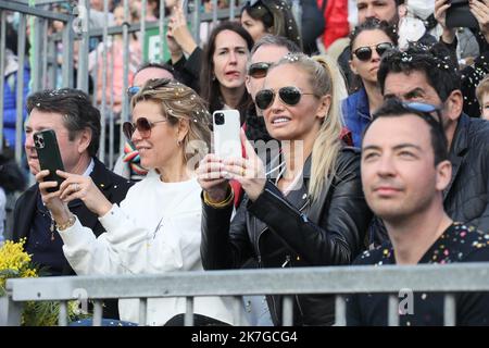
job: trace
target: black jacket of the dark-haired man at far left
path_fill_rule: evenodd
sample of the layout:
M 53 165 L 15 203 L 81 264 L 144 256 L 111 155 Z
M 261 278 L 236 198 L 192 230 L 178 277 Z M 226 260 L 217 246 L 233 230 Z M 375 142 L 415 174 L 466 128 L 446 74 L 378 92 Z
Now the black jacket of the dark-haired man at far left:
M 112 203 L 120 203 L 126 197 L 127 190 L 133 184 L 124 177 L 108 170 L 98 159 L 93 158 L 93 161 L 95 166 L 90 174 L 91 179 L 100 188 L 109 201 Z M 12 239 L 14 241 L 18 241 L 18 239 L 24 237 L 27 239 L 29 238 L 30 226 L 37 209 L 37 200 L 39 195 L 39 185 L 36 184 L 22 194 L 15 202 L 14 228 L 12 235 Z M 74 214 L 76 214 L 82 225 L 91 228 L 97 237 L 104 232 L 98 216 L 89 211 L 80 200 L 71 202 L 68 208 Z M 66 259 L 64 259 L 64 263 L 65 266 L 63 268 L 63 275 L 74 275 L 75 272 L 70 266 Z M 114 304 L 115 306 L 108 306 L 106 310 L 104 309 L 104 315 L 106 318 L 116 319 L 116 315 L 118 315 L 116 313 L 115 301 Z

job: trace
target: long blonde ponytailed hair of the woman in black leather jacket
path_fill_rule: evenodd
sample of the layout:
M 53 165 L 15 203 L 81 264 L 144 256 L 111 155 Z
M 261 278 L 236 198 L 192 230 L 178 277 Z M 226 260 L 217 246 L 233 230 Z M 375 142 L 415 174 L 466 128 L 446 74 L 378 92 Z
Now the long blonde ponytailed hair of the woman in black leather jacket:
M 308 191 L 314 201 L 325 188 L 326 182 L 331 182 L 336 175 L 336 160 L 342 147 L 340 101 L 346 92 L 344 82 L 341 80 L 338 65 L 325 55 L 309 58 L 303 53 L 290 53 L 273 66 L 283 64 L 297 65 L 303 71 L 316 97 L 331 98 L 311 153 L 311 179 Z M 344 90 L 341 90 L 341 86 Z

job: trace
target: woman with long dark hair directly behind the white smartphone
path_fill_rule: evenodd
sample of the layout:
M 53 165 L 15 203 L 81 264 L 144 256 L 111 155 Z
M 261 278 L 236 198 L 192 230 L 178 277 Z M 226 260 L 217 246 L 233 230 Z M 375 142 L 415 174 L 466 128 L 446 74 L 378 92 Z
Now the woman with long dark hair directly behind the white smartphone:
M 216 26 L 204 47 L 200 95 L 209 102 L 209 110 L 237 109 L 241 123 L 251 98 L 244 85 L 247 61 L 253 39 L 241 25 L 223 22 Z

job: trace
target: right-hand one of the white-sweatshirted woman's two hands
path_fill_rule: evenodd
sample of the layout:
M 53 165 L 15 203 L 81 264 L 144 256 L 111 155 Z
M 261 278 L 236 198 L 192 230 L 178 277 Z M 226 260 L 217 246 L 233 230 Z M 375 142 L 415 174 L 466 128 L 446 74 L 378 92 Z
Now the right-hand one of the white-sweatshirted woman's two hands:
M 105 215 L 112 209 L 112 203 L 93 184 L 90 176 L 70 174 L 62 171 L 57 171 L 57 174 L 65 178 L 60 185 L 60 199 L 65 203 L 74 199 L 80 199 L 98 216 Z

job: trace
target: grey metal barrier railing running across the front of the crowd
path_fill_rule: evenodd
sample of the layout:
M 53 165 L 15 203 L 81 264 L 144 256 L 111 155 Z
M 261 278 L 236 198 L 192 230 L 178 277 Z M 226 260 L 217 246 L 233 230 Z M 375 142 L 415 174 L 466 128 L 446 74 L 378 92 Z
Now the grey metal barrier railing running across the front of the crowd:
M 240 318 L 241 296 L 284 295 L 283 323 L 292 325 L 293 296 L 297 294 L 336 295 L 336 325 L 346 325 L 348 294 L 391 294 L 389 325 L 399 325 L 401 290 L 446 293 L 444 325 L 455 325 L 454 293 L 489 291 L 488 263 L 459 263 L 415 266 L 330 266 L 268 270 L 176 272 L 162 275 L 71 276 L 9 279 L 8 298 L 0 302 L 0 325 L 20 325 L 22 302 L 61 301 L 60 325 L 66 325 L 68 300 L 80 289 L 95 302 L 93 325 L 100 325 L 102 299 L 140 300 L 139 322 L 147 318 L 148 298 L 185 297 L 185 324 L 192 324 L 193 297 L 229 296 L 235 298 L 236 318 Z M 142 306 L 141 306 L 142 304 Z

